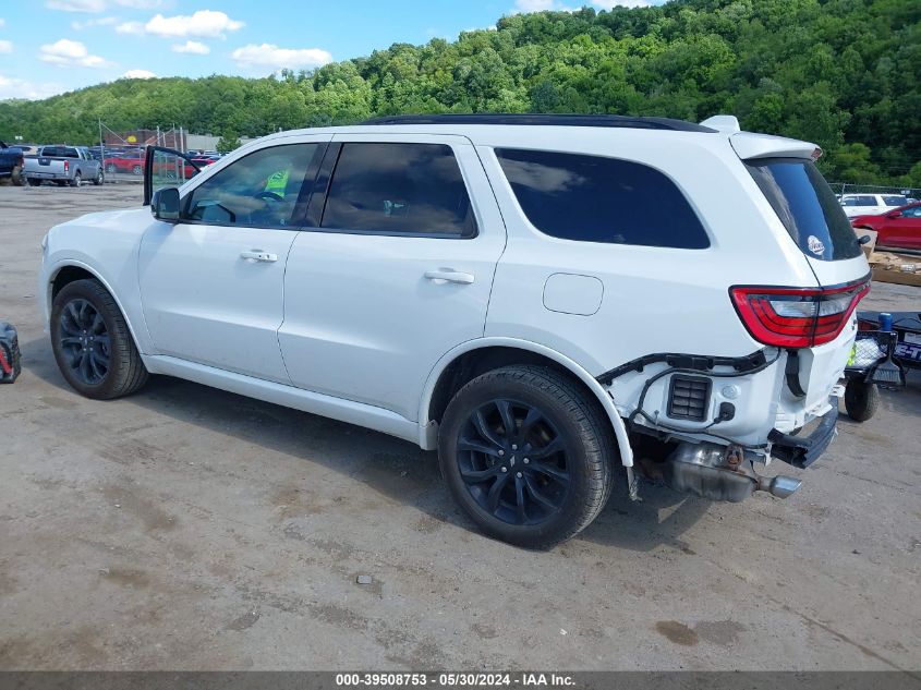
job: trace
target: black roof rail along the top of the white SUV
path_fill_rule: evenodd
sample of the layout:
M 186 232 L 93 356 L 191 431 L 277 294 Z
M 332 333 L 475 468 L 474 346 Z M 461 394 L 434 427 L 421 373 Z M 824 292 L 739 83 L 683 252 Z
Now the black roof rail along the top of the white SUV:
M 596 114 L 531 114 L 531 113 L 475 113 L 475 114 L 400 114 L 365 120 L 362 124 L 520 124 L 536 126 L 599 126 L 635 130 L 671 130 L 675 132 L 716 132 L 706 126 L 672 120 L 671 118 L 632 118 L 628 116 Z

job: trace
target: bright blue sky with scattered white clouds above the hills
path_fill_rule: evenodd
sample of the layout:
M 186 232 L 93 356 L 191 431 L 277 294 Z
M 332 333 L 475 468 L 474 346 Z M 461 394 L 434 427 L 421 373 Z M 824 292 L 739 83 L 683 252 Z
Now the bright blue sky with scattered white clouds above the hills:
M 448 39 L 513 12 L 663 0 L 19 0 L 0 1 L 0 99 L 121 76 L 265 76 Z

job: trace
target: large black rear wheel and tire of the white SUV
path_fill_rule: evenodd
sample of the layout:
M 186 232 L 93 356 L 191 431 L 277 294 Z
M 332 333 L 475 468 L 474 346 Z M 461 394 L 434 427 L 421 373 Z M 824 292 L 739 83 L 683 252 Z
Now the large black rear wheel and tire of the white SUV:
M 487 372 L 455 396 L 438 435 L 448 487 L 486 534 L 549 548 L 610 496 L 614 439 L 599 405 L 542 366 Z

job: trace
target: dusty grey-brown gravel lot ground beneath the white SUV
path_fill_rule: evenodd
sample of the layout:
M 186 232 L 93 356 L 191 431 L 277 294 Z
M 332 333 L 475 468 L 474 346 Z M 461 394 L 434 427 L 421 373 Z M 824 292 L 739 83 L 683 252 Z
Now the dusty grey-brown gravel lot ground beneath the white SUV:
M 843 419 L 812 469 L 783 465 L 805 479 L 786 501 L 616 489 L 581 536 L 523 552 L 393 438 L 163 377 L 74 394 L 38 242 L 140 197 L 0 187 L 0 318 L 24 354 L 0 387 L 0 668 L 921 669 L 921 377 Z

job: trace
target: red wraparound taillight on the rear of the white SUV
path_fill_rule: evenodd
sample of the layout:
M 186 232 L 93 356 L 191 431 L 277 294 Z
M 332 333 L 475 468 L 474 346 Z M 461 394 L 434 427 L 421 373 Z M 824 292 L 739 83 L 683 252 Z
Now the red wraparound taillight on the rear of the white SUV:
M 857 303 L 868 292 L 869 279 L 835 288 L 729 290 L 752 337 L 777 348 L 811 348 L 831 342 L 844 330 Z

